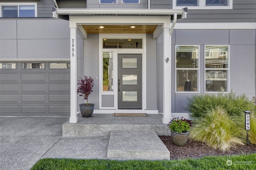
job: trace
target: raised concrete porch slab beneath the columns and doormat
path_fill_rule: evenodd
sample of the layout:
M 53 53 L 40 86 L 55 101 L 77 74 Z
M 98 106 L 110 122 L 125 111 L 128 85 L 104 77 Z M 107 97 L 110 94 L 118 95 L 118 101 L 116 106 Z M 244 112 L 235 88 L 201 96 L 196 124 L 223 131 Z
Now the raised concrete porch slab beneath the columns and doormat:
M 157 135 L 170 136 L 169 127 L 162 123 L 162 115 L 149 114 L 148 117 L 114 117 L 112 114 L 93 114 L 82 117 L 77 123 L 67 121 L 62 125 L 63 137 L 109 136 L 110 131 L 154 131 Z

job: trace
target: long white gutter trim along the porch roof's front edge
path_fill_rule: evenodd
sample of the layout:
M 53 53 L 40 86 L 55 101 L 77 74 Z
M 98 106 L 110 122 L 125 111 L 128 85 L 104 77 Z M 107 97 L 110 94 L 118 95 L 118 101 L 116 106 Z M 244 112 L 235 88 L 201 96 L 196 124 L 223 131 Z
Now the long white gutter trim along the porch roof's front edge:
M 162 15 L 174 14 L 185 16 L 184 10 L 170 9 L 60 9 L 56 8 L 58 15 Z

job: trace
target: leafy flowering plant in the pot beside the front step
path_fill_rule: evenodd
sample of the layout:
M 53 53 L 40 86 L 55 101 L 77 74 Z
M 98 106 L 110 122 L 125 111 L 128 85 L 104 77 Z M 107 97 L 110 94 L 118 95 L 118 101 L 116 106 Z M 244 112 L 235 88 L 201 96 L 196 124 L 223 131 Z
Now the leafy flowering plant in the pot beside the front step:
M 190 120 L 184 119 L 183 117 L 181 119 L 176 117 L 172 118 L 168 126 L 172 132 L 186 133 L 189 131 L 191 123 Z

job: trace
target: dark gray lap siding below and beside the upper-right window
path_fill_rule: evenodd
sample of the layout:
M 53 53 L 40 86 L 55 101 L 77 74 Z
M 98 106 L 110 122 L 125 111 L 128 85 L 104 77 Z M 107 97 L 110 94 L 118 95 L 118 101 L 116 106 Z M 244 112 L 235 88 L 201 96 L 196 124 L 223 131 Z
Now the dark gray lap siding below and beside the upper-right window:
M 233 0 L 230 10 L 190 10 L 177 22 L 256 22 L 256 0 Z

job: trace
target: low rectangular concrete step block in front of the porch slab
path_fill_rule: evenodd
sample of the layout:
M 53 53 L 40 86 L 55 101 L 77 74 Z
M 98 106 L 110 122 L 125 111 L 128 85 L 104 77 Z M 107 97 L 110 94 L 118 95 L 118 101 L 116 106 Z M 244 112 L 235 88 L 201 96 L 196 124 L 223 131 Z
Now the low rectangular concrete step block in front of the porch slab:
M 111 131 L 107 157 L 170 160 L 170 152 L 154 131 Z

